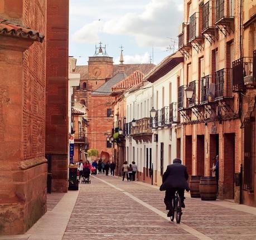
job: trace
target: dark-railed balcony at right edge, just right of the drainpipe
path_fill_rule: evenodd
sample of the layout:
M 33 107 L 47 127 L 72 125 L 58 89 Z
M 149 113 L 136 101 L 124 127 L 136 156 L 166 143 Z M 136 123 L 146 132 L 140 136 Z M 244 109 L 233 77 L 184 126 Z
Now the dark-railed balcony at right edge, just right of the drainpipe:
M 246 85 L 255 85 L 255 77 L 253 76 L 253 57 L 241 57 L 234 61 L 232 66 L 233 92 L 240 92 L 246 89 Z

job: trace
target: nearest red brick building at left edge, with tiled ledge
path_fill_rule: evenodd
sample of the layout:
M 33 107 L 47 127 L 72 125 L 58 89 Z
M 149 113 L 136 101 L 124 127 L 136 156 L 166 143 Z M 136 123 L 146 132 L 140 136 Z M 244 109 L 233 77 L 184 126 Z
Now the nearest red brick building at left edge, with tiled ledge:
M 45 34 L 44 1 L 0 1 L 1 234 L 46 212 Z

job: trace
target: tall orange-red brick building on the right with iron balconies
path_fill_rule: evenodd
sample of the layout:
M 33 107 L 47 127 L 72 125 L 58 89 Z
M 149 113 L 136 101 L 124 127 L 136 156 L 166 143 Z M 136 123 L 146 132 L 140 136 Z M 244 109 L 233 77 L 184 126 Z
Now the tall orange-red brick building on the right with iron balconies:
M 255 206 L 255 6 L 185 0 L 184 9 L 178 43 L 185 57 L 184 85 L 178 87 L 183 160 L 190 174 L 209 176 L 219 155 L 219 198 Z M 252 79 L 249 87 L 246 79 Z

